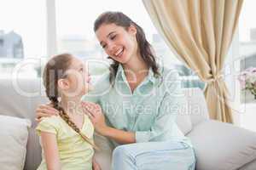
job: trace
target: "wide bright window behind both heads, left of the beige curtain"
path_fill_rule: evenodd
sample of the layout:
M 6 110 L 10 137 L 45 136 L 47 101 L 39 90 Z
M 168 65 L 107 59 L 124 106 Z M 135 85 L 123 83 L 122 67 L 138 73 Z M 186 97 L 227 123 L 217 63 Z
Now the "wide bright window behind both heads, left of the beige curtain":
M 172 54 L 154 28 L 143 2 L 137 0 L 3 1 L 0 6 L 1 77 L 10 77 L 14 71 L 21 77 L 41 76 L 46 57 L 65 52 L 90 59 L 90 72 L 102 74 L 108 69 L 109 59 L 96 40 L 93 23 L 99 14 L 108 10 L 122 11 L 143 27 L 157 56 L 185 77 L 184 87 L 204 87 Z

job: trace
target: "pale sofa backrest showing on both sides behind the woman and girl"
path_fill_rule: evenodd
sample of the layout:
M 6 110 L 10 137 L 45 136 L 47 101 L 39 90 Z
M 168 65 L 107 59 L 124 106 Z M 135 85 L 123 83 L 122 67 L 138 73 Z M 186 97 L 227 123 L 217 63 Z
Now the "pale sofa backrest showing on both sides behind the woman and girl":
M 26 170 L 36 169 L 41 161 L 41 148 L 36 127 L 35 110 L 40 104 L 49 103 L 41 79 L 0 79 L 0 115 L 18 116 L 32 121 L 26 152 Z M 187 134 L 197 124 L 208 119 L 207 105 L 200 88 L 186 88 L 187 110 L 177 116 L 177 125 Z

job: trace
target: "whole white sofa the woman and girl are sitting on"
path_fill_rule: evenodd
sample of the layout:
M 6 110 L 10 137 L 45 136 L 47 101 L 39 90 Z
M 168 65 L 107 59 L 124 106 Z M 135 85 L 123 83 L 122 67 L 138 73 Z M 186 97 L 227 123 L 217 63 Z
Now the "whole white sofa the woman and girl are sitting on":
M 24 169 L 35 170 L 41 161 L 41 148 L 34 132 L 34 118 L 36 107 L 48 102 L 44 87 L 39 79 L 0 79 L 0 92 L 0 115 L 18 116 L 32 121 Z M 256 133 L 210 120 L 206 101 L 199 88 L 186 88 L 184 94 L 188 99 L 188 112 L 177 116 L 177 124 L 195 146 L 196 169 L 256 170 Z M 102 148 L 102 152 L 96 153 L 102 170 L 110 169 L 111 143 L 96 135 L 96 144 Z

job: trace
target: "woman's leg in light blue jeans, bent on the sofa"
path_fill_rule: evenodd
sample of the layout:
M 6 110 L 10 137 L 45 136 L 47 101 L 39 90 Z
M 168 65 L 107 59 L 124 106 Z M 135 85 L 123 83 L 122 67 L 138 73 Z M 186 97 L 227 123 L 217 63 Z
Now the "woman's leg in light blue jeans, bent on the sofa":
M 194 170 L 194 150 L 183 142 L 119 145 L 113 150 L 113 170 Z

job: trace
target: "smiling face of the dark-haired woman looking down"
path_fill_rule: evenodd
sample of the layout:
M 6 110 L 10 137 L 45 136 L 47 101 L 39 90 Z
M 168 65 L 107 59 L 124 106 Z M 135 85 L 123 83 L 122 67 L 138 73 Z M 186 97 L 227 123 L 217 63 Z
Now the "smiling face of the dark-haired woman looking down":
M 103 24 L 96 31 L 96 37 L 109 57 L 126 64 L 137 54 L 136 33 L 135 26 L 125 30 L 124 27 L 115 24 Z

